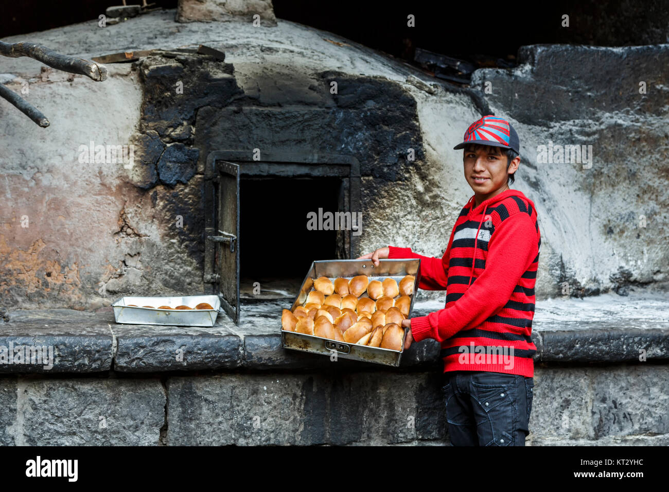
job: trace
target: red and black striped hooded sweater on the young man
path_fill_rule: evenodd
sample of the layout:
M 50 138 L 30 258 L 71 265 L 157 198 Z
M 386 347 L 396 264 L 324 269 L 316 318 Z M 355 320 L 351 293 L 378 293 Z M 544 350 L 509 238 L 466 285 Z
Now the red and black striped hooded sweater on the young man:
M 411 318 L 415 341 L 442 344 L 444 372 L 534 376 L 530 338 L 541 248 L 537 208 L 510 189 L 460 212 L 442 258 L 389 246 L 389 258 L 420 258 L 419 289 L 446 290 L 446 307 Z M 475 259 L 475 261 L 473 261 Z

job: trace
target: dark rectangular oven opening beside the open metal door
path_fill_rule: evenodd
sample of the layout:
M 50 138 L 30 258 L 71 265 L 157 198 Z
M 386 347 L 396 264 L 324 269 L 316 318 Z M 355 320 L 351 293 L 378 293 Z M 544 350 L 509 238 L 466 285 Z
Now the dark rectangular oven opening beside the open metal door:
M 338 177 L 240 178 L 240 300 L 292 301 L 312 261 L 344 258 L 345 231 L 307 229 L 309 212 L 348 210 L 343 191 Z

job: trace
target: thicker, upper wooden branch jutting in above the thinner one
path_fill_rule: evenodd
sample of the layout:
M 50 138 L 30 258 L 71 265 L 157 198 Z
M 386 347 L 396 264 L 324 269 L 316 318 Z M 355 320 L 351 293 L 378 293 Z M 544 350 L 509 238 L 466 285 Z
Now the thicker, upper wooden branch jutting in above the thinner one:
M 70 74 L 80 74 L 92 78 L 96 82 L 102 82 L 107 78 L 107 68 L 104 65 L 89 62 L 83 58 L 62 55 L 54 52 L 45 46 L 33 43 L 15 43 L 9 44 L 0 41 L 0 55 L 10 58 L 19 58 L 27 56 L 39 60 L 45 65 L 57 68 Z M 17 106 L 18 107 L 18 106 Z

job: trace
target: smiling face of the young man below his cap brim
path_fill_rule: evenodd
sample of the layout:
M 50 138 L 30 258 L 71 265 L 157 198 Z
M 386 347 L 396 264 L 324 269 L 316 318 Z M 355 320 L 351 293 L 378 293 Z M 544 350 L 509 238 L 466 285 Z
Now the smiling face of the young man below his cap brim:
M 464 149 L 464 177 L 476 195 L 484 197 L 502 187 L 508 187 L 506 186 L 508 181 L 507 157 L 502 152 L 504 150 L 500 147 L 486 149 L 483 146 L 472 146 Z M 509 166 L 508 170 L 513 169 Z

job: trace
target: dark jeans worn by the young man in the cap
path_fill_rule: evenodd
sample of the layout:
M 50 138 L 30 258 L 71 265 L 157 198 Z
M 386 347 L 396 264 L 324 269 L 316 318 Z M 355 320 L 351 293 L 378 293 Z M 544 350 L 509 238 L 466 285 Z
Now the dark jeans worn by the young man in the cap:
M 524 446 L 533 378 L 485 371 L 444 374 L 446 421 L 453 446 Z

